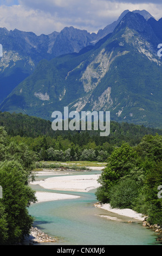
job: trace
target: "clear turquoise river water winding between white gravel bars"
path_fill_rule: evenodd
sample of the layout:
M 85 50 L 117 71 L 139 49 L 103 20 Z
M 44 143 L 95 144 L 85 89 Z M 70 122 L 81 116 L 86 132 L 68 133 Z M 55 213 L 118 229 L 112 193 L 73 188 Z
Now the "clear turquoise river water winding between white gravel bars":
M 94 173 L 96 172 L 87 175 Z M 81 173 L 75 173 L 77 174 Z M 41 176 L 37 179 L 45 178 L 49 176 Z M 78 199 L 37 203 L 30 206 L 29 214 L 35 217 L 35 225 L 44 233 L 59 238 L 57 243 L 51 245 L 159 245 L 156 241 L 157 235 L 142 227 L 138 221 L 128 223 L 127 221 L 131 219 L 127 217 L 119 217 L 106 210 L 95 208 L 95 190 L 81 193 L 44 190 L 40 186 L 33 188 L 37 191 L 81 196 Z M 107 220 L 100 215 L 122 218 L 122 221 Z

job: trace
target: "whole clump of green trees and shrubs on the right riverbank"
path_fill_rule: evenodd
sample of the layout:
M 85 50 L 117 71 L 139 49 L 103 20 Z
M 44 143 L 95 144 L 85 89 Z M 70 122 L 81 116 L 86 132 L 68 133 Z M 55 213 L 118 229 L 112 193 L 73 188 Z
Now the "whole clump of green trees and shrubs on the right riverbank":
M 100 202 L 135 210 L 150 224 L 162 225 L 162 136 L 147 135 L 136 147 L 123 143 L 114 149 L 99 182 Z

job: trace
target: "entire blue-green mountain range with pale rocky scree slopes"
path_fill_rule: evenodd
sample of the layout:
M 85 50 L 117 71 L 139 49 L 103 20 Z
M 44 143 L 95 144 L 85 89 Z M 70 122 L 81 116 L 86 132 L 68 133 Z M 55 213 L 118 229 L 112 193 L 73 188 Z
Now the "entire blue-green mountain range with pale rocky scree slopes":
M 69 106 L 161 128 L 161 22 L 147 11 L 126 10 L 98 34 L 73 27 L 40 36 L 0 29 L 1 111 L 51 120 L 53 111 Z

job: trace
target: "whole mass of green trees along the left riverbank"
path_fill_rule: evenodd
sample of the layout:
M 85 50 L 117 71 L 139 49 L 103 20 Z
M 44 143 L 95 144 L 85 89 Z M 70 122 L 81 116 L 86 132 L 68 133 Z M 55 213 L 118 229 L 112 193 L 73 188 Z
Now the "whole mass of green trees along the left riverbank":
M 28 186 L 35 154 L 24 143 L 9 143 L 4 127 L 0 127 L 0 141 L 0 244 L 10 245 L 22 241 L 33 223 L 27 208 L 36 202 Z

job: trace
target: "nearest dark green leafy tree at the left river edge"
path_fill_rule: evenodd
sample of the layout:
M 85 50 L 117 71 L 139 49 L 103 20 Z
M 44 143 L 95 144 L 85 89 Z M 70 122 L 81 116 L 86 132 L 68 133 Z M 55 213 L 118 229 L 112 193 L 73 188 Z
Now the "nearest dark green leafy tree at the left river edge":
M 1 163 L 0 185 L 3 188 L 2 204 L 7 215 L 7 243 L 21 242 L 29 234 L 33 223 L 27 208 L 36 202 L 35 192 L 26 184 L 23 168 L 17 161 Z

